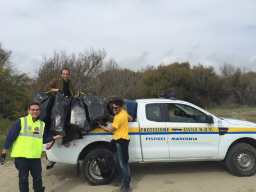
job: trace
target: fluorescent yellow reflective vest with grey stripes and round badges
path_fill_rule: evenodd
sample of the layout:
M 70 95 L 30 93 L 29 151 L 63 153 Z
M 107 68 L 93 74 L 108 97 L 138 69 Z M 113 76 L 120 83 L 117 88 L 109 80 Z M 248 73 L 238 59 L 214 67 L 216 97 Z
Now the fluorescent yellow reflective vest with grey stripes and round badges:
M 33 122 L 30 114 L 21 117 L 21 130 L 13 143 L 11 157 L 41 158 L 43 149 L 44 122 Z

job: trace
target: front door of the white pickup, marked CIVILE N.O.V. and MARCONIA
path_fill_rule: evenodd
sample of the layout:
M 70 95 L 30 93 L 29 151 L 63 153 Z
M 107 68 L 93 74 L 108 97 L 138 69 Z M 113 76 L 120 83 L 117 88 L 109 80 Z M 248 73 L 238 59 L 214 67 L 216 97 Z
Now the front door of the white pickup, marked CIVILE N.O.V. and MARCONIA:
M 206 122 L 207 115 L 192 106 L 166 103 L 168 147 L 171 159 L 212 158 L 217 156 L 217 125 Z

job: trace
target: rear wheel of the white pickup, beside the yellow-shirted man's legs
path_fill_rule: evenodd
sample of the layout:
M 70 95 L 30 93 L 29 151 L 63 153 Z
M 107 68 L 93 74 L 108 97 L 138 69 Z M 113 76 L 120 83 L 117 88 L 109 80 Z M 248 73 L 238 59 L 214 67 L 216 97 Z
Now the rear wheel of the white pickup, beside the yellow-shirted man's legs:
M 108 158 L 111 161 L 111 171 L 107 177 L 102 177 L 100 175 L 100 170 L 95 158 Z M 106 185 L 112 181 L 115 175 L 115 165 L 113 163 L 114 154 L 109 149 L 99 148 L 94 149 L 92 152 L 88 153 L 82 164 L 82 172 L 85 180 L 89 182 L 90 185 Z

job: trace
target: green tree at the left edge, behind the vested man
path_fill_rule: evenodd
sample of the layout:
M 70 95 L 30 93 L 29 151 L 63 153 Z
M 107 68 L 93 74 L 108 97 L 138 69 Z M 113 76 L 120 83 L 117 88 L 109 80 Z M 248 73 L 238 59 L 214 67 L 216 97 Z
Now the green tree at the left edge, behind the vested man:
M 0 43 L 0 116 L 15 120 L 28 108 L 30 78 L 13 67 L 11 53 Z

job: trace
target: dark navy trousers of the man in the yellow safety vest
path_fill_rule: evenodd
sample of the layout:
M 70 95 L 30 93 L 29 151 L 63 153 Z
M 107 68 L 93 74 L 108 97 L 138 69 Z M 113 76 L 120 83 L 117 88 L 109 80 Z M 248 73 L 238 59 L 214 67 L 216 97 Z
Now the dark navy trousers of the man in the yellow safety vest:
M 19 189 L 21 192 L 29 191 L 29 171 L 33 177 L 33 189 L 42 188 L 42 166 L 41 159 L 29 159 L 16 157 L 14 160 L 15 167 L 19 170 Z

